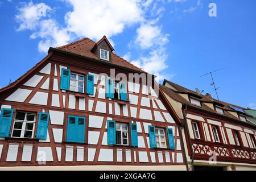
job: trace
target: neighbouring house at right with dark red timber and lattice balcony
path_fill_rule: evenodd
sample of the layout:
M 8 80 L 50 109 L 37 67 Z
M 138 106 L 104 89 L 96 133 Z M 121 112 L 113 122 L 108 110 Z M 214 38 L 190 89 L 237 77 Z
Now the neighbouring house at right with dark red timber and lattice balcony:
M 184 126 L 190 168 L 256 169 L 256 126 L 245 108 L 164 80 L 160 86 Z M 216 156 L 216 165 L 210 162 Z

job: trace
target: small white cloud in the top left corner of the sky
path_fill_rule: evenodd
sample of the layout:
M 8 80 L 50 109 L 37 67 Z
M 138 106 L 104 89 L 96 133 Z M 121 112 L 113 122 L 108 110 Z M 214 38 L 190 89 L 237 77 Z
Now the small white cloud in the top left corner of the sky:
M 16 21 L 20 23 L 17 31 L 23 30 L 35 30 L 39 24 L 39 20 L 47 16 L 47 13 L 51 11 L 51 7 L 44 3 L 34 4 L 25 3 L 24 6 L 18 8 L 19 14 L 15 16 Z

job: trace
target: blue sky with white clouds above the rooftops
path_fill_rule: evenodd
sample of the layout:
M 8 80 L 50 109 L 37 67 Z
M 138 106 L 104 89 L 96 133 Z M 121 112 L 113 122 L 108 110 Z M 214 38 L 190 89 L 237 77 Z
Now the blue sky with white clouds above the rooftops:
M 209 3 L 217 17 L 210 17 Z M 0 0 L 0 87 L 47 55 L 48 47 L 103 35 L 146 71 L 220 99 L 256 107 L 256 1 Z M 160 81 L 162 83 L 162 81 Z

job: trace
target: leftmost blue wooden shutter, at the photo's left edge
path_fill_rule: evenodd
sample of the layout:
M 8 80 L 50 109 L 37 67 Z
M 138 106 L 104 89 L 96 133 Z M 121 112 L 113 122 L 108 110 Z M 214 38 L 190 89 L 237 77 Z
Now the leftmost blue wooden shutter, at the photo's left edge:
M 9 137 L 13 112 L 13 109 L 2 108 L 0 115 L 0 137 Z

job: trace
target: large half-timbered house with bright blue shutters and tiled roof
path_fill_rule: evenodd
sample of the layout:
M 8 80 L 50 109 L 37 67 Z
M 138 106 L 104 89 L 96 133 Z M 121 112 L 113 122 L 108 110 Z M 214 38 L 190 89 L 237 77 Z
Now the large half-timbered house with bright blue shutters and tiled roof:
M 186 169 L 179 117 L 157 85 L 110 77 L 148 75 L 113 50 L 105 36 L 49 48 L 0 90 L 1 167 Z

